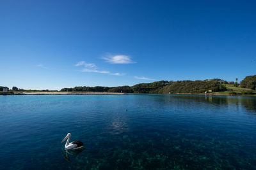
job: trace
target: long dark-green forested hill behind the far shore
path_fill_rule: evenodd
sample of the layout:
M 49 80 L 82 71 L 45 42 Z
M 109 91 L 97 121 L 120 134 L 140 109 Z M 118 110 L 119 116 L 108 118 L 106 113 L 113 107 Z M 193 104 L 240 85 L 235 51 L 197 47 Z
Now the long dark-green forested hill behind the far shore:
M 63 92 L 127 92 L 127 93 L 202 93 L 208 90 L 212 92 L 221 92 L 227 90 L 226 87 L 214 80 L 184 80 L 184 81 L 155 81 L 153 83 L 140 83 L 132 87 L 74 87 L 63 88 Z

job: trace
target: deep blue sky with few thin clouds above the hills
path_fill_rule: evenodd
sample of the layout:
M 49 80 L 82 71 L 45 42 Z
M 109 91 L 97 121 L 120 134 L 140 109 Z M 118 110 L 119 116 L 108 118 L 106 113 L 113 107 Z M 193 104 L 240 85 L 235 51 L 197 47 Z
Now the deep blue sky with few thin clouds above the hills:
M 256 1 L 0 1 L 0 85 L 119 86 L 255 74 Z

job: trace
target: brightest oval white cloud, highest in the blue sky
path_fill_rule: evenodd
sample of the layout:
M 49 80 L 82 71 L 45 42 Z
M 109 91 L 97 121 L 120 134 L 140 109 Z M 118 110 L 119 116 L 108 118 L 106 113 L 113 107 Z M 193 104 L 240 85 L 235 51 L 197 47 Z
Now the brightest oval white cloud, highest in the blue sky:
M 131 60 L 131 57 L 128 55 L 108 55 L 108 57 L 102 57 L 102 59 L 106 60 L 111 64 L 132 64 L 136 63 Z

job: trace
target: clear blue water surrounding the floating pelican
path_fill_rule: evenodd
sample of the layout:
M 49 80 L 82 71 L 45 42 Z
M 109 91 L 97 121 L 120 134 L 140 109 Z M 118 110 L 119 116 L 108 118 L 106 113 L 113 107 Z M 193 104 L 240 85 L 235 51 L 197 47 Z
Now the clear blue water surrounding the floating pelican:
M 0 96 L 0 129 L 0 169 L 256 169 L 256 97 Z

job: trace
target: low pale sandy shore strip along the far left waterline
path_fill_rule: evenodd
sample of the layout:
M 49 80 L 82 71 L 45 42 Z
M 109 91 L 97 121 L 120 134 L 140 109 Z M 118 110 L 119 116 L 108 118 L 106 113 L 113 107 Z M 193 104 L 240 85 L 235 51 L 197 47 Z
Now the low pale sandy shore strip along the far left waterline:
M 19 92 L 14 95 L 113 95 L 113 94 L 125 94 L 125 93 L 113 93 L 113 92 Z

